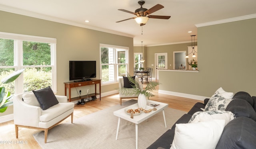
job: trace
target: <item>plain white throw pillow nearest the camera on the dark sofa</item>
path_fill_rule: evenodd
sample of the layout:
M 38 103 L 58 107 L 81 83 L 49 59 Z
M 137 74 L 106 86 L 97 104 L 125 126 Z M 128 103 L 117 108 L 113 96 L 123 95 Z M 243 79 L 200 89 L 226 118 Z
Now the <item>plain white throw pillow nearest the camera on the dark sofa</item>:
M 176 124 L 171 149 L 215 149 L 225 120 Z

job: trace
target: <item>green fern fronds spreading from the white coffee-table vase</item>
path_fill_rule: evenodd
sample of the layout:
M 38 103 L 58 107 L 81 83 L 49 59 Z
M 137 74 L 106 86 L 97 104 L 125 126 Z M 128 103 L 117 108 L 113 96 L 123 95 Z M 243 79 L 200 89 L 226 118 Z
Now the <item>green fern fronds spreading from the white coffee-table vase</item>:
M 125 93 L 125 94 L 144 94 L 148 99 L 149 97 L 153 97 L 154 95 L 149 92 L 149 91 L 153 91 L 156 90 L 156 86 L 159 84 L 158 82 L 148 82 L 147 86 L 145 89 L 140 88 L 140 84 L 139 82 L 137 82 L 135 79 L 132 78 L 132 76 L 130 76 L 128 74 L 128 80 L 129 82 L 133 83 L 134 85 L 132 86 L 132 88 L 134 90 L 129 90 L 129 88 L 119 88 L 119 91 L 121 93 Z

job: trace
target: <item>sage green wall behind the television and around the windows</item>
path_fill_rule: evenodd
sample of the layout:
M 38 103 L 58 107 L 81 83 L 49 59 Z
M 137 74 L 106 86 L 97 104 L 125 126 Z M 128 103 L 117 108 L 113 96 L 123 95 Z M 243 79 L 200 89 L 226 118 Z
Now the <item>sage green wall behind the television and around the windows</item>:
M 57 94 L 64 95 L 69 82 L 69 61 L 96 61 L 100 78 L 100 43 L 129 47 L 133 66 L 133 38 L 0 11 L 0 31 L 57 39 Z M 129 71 L 133 72 L 133 67 Z M 102 86 L 102 93 L 116 90 L 118 83 Z M 10 107 L 11 108 L 11 107 Z M 9 109 L 9 108 L 8 108 Z M 10 109 L 12 110 L 12 109 Z M 5 112 L 4 115 L 8 114 Z M 1 115 L 0 115 L 1 116 Z

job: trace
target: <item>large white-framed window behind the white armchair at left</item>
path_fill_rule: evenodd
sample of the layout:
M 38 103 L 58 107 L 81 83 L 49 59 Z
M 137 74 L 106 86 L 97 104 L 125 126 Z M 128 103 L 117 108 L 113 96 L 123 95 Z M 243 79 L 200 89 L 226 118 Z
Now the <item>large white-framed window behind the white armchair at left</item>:
M 50 86 L 56 92 L 56 39 L 0 32 L 0 79 L 25 69 L 10 84 L 11 94 Z

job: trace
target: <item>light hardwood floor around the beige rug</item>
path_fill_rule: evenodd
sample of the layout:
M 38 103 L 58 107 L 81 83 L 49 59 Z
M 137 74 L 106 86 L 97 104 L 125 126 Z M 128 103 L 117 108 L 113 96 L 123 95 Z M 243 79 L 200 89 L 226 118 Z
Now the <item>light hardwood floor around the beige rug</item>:
M 146 84 L 143 84 L 145 87 Z M 169 108 L 174 108 L 177 110 L 188 112 L 196 102 L 202 102 L 201 100 L 193 100 L 189 98 L 182 98 L 177 96 L 170 96 L 166 94 L 158 94 L 158 86 L 154 91 L 154 97 L 151 97 L 150 100 L 156 100 L 159 102 L 164 102 L 169 104 Z M 123 99 L 122 102 L 125 102 L 130 99 Z M 86 102 L 84 106 L 74 107 L 74 120 L 82 116 L 91 114 L 93 112 L 100 111 L 102 109 L 114 106 L 119 103 L 119 95 L 113 94 L 110 96 L 102 97 L 101 101 L 99 99 L 95 101 Z M 75 121 L 74 121 L 75 122 Z M 64 120 L 62 123 L 70 123 L 70 117 Z M 62 124 L 60 123 L 60 124 Z M 50 130 L 49 130 L 50 131 Z M 40 132 L 39 130 L 19 128 L 19 137 L 15 137 L 14 122 L 4 122 L 0 123 L 0 141 L 9 141 L 9 144 L 3 144 L 0 142 L 0 148 L 5 149 L 40 149 L 36 140 L 34 139 L 34 133 Z M 18 141 L 18 142 L 17 142 Z M 20 144 L 19 144 L 20 143 Z

